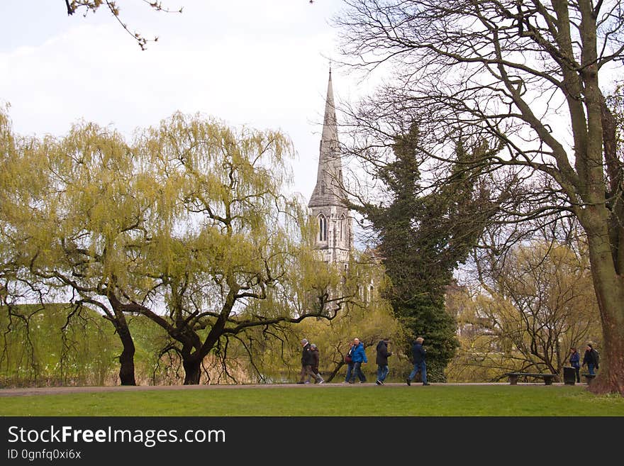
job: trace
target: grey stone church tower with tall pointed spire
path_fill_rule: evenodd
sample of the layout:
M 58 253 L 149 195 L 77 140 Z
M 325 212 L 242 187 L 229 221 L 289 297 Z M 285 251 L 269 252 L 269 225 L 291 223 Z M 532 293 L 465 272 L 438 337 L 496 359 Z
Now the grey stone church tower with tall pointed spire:
M 316 249 L 321 253 L 322 260 L 340 264 L 344 270 L 347 269 L 353 240 L 351 216 L 342 201 L 345 198 L 330 70 L 316 186 L 308 209 L 313 221 L 316 221 Z

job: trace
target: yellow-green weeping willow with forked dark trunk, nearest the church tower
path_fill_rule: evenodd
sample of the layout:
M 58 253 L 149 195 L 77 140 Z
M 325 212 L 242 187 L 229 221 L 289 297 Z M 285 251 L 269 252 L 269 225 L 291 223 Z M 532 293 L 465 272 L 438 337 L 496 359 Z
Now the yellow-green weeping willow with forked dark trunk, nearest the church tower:
M 206 356 L 225 360 L 248 329 L 332 319 L 351 299 L 324 291 L 340 284 L 337 271 L 310 265 L 306 215 L 285 194 L 293 151 L 284 135 L 176 113 L 136 150 L 159 187 L 142 272 L 162 302 L 140 312 L 167 331 L 163 350 L 182 360 L 184 384 L 198 384 Z

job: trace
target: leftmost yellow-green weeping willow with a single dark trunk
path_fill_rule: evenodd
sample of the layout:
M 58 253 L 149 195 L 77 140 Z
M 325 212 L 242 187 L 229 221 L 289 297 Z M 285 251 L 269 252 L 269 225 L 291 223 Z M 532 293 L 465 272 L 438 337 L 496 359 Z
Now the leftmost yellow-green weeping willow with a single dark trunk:
M 122 300 L 130 294 L 141 301 L 150 292 L 132 273 L 152 198 L 141 166 L 121 135 L 91 123 L 60 139 L 21 140 L 6 160 L 0 209 L 16 290 L 37 290 L 41 302 L 99 309 L 123 345 L 123 385 L 136 382 L 125 314 L 131 309 Z

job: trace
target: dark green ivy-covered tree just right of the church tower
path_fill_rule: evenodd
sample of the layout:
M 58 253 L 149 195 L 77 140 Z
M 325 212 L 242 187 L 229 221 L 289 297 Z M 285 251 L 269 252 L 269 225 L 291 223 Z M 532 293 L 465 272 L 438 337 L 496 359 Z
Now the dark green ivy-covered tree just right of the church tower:
M 377 165 L 386 204 L 364 201 L 354 208 L 364 214 L 376 233 L 379 255 L 391 281 L 388 298 L 396 316 L 411 338 L 423 336 L 428 345 L 428 367 L 432 379 L 443 380 L 447 363 L 458 346 L 453 316 L 445 311 L 445 289 L 453 270 L 463 262 L 486 224 L 491 205 L 479 186 L 479 172 L 466 170 L 465 162 L 488 150 L 464 141 L 456 144 L 455 173 L 435 192 L 420 187 L 418 126 L 398 135 L 393 157 Z M 409 353 L 409 348 L 405 348 Z

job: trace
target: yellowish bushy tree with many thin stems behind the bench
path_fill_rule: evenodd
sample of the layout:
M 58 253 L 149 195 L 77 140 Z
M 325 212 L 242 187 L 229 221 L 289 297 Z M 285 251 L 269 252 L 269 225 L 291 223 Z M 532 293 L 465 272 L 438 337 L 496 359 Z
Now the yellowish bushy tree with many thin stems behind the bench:
M 454 372 L 560 375 L 569 348 L 601 341 L 586 254 L 545 238 L 513 248 L 504 263 L 484 256 L 475 262 L 479 292 L 461 309 L 463 350 Z

